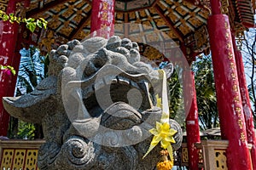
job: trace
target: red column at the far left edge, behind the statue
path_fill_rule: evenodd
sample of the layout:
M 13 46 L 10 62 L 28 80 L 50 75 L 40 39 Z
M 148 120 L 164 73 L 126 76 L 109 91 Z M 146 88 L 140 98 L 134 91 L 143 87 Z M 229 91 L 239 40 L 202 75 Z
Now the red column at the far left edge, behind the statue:
M 3 6 L 3 5 L 1 5 Z M 9 0 L 6 8 L 6 13 L 15 13 L 16 2 Z M 3 8 L 2 8 L 3 9 Z M 19 65 L 12 65 L 15 59 L 15 44 L 17 42 L 19 25 L 17 23 L 11 24 L 9 21 L 0 20 L 0 65 L 14 66 L 16 71 Z M 14 95 L 14 87 L 16 78 L 9 74 L 8 71 L 0 71 L 0 136 L 6 136 L 9 126 L 9 114 L 3 109 L 3 96 Z

